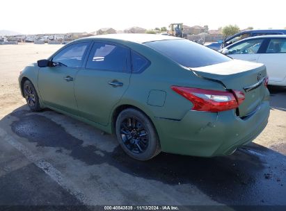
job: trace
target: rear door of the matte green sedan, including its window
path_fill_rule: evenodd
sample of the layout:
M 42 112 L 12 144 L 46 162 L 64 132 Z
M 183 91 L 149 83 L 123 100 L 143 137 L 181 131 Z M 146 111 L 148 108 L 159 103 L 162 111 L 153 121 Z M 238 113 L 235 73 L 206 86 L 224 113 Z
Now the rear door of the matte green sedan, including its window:
M 119 44 L 95 42 L 86 68 L 79 70 L 75 96 L 81 116 L 108 124 L 111 110 L 129 86 L 130 50 Z

